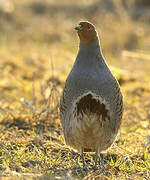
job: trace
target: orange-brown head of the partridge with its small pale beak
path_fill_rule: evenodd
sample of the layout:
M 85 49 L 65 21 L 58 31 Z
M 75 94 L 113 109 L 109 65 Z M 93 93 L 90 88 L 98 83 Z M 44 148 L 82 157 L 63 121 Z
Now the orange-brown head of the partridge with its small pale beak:
M 86 46 L 95 39 L 95 27 L 89 22 L 80 22 L 75 29 L 78 32 L 80 42 Z

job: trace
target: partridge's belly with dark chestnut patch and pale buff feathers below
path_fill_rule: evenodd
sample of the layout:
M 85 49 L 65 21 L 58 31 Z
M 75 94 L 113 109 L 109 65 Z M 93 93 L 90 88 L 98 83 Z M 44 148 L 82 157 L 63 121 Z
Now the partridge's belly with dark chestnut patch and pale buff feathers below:
M 77 99 L 73 105 L 73 118 L 70 121 L 75 139 L 75 148 L 83 147 L 86 151 L 94 151 L 101 145 L 104 146 L 104 130 L 110 121 L 109 106 L 100 97 L 89 92 Z M 67 139 L 71 137 L 67 136 Z M 100 140 L 102 139 L 102 140 Z M 71 141 L 69 144 L 72 144 Z M 78 147 L 79 146 L 79 147 Z M 100 147 L 100 149 L 102 149 Z

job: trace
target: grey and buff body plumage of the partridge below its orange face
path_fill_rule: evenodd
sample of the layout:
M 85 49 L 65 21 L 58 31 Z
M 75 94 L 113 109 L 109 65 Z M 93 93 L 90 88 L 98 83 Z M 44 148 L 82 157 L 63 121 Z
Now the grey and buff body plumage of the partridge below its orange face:
M 60 118 L 66 144 L 79 152 L 100 153 L 111 146 L 117 135 L 123 101 L 119 84 L 101 53 L 95 28 L 93 32 L 87 44 L 82 43 L 79 34 L 78 55 L 60 100 Z

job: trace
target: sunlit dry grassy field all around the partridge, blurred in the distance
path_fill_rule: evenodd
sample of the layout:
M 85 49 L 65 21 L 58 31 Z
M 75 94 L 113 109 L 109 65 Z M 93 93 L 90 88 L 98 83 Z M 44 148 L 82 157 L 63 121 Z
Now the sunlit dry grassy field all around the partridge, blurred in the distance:
M 150 179 L 148 1 L 0 2 L 0 179 Z M 113 145 L 87 167 L 65 145 L 59 99 L 78 50 L 74 26 L 95 24 L 124 115 Z

